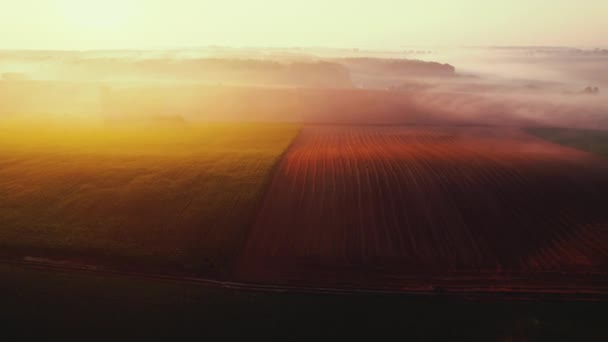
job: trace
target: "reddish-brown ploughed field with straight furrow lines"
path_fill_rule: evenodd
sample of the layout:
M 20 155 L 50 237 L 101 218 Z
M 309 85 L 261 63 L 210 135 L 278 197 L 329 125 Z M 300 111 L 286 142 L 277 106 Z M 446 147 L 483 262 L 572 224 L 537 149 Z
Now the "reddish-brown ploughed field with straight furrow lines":
M 576 286 L 608 263 L 606 171 L 602 158 L 518 128 L 308 126 L 278 166 L 237 274 L 508 288 L 513 275 L 565 272 Z

